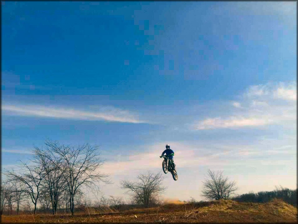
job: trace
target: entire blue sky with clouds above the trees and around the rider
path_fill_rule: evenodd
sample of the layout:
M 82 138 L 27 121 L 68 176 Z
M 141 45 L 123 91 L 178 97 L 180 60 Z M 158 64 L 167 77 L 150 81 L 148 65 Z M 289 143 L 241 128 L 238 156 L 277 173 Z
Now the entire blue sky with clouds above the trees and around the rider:
M 46 139 L 88 142 L 115 183 L 103 194 L 122 195 L 119 180 L 161 171 L 168 143 L 179 181 L 164 197 L 200 200 L 208 168 L 238 193 L 295 188 L 296 9 L 2 1 L 2 169 Z

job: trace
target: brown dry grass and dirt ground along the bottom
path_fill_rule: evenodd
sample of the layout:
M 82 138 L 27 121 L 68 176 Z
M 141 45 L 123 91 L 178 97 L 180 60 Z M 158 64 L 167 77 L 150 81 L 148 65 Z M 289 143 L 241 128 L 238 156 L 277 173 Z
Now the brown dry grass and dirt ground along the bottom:
M 1 216 L 1 223 L 297 223 L 297 208 L 282 200 L 240 203 L 232 200 L 176 202 L 156 208 L 96 214 Z

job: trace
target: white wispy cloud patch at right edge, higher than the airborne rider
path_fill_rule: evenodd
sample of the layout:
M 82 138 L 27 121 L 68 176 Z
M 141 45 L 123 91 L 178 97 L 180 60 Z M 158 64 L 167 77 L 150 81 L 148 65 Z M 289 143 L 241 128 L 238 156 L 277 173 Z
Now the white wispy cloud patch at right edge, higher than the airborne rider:
M 296 100 L 296 84 L 294 83 L 253 85 L 247 88 L 241 96 L 240 102 L 232 103 L 234 109 L 230 112 L 232 113 L 230 116 L 207 117 L 196 122 L 193 128 L 205 130 L 256 127 L 295 121 Z M 219 113 L 219 115 L 221 114 Z

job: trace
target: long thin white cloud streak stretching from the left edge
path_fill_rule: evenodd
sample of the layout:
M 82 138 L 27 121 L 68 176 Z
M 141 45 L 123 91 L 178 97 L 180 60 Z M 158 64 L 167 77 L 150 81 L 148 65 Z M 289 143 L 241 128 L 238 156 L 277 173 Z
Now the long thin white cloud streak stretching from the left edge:
M 71 108 L 53 108 L 40 105 L 2 105 L 2 110 L 9 115 L 37 116 L 76 120 L 103 120 L 109 122 L 149 123 L 137 118 L 130 111 L 110 107 L 108 110 L 94 112 Z

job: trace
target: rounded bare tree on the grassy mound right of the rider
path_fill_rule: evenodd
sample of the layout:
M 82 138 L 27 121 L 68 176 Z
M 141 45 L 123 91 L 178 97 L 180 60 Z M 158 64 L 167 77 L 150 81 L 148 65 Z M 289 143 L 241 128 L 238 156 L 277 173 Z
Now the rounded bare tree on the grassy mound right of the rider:
M 202 196 L 210 200 L 229 199 L 238 189 L 235 181 L 229 181 L 223 176 L 223 171 L 213 172 L 208 170 L 207 179 L 203 182 Z

